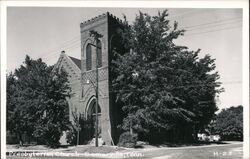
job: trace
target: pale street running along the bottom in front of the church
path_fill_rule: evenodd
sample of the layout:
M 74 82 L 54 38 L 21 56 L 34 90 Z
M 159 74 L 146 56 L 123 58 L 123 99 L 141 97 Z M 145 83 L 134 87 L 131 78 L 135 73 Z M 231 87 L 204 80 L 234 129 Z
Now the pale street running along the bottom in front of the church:
M 107 154 L 106 154 L 107 155 Z M 30 157 L 9 156 L 8 159 L 26 159 Z M 116 158 L 115 155 L 105 157 L 91 156 L 34 156 L 33 159 L 107 159 Z M 208 146 L 190 146 L 179 148 L 152 148 L 152 149 L 134 149 L 118 155 L 117 158 L 133 158 L 133 159 L 242 159 L 243 144 L 223 144 L 223 145 L 208 145 Z

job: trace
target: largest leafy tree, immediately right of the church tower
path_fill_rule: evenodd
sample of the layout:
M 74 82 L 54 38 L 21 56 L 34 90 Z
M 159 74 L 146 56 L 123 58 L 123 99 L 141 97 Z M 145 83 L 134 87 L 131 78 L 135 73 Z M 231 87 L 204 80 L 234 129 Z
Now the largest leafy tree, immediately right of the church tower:
M 167 10 L 153 17 L 140 12 L 124 28 L 124 48 L 113 49 L 112 89 L 124 113 L 123 130 L 150 141 L 187 141 L 210 122 L 223 89 L 215 59 L 177 46 L 174 40 L 185 30 L 177 22 L 170 26 L 167 16 Z

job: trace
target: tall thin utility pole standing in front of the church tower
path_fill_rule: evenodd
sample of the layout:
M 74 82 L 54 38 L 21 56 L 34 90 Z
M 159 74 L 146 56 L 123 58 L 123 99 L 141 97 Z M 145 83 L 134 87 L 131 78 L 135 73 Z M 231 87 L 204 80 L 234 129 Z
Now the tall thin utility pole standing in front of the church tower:
M 95 104 L 95 117 L 96 117 L 96 122 L 95 122 L 95 146 L 98 147 L 98 46 L 97 46 L 97 42 L 98 42 L 98 38 L 103 37 L 101 34 L 99 34 L 97 31 L 91 30 L 89 32 L 89 35 L 91 37 L 94 37 L 94 42 L 95 44 L 91 44 L 92 46 L 94 46 L 96 48 L 96 104 Z

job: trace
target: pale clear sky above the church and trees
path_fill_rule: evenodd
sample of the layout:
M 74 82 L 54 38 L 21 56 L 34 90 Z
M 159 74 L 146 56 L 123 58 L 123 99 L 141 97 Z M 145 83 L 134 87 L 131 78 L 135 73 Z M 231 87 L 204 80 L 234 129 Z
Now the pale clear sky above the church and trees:
M 185 35 L 175 41 L 190 50 L 210 54 L 225 92 L 220 109 L 242 105 L 242 10 L 167 8 L 171 22 L 177 21 Z M 60 52 L 80 58 L 80 23 L 109 11 L 133 23 L 139 10 L 156 15 L 158 8 L 67 8 L 8 7 L 7 72 L 14 71 L 28 54 L 55 64 Z

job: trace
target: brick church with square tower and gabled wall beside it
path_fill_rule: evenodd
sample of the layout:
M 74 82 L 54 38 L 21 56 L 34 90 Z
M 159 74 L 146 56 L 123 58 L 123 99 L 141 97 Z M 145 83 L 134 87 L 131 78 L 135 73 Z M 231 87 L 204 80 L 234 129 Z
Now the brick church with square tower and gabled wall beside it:
M 113 45 L 119 43 L 115 40 L 115 34 L 122 26 L 122 21 L 108 12 L 81 23 L 81 59 L 70 57 L 62 51 L 55 65 L 63 67 L 68 73 L 72 89 L 67 99 L 71 121 L 73 121 L 73 111 L 85 119 L 96 115 L 96 66 L 98 67 L 98 130 L 106 145 L 113 145 L 119 137 L 117 123 L 120 115 L 110 93 L 112 92 L 110 65 Z M 90 37 L 91 30 L 98 32 L 102 37 L 98 40 Z

